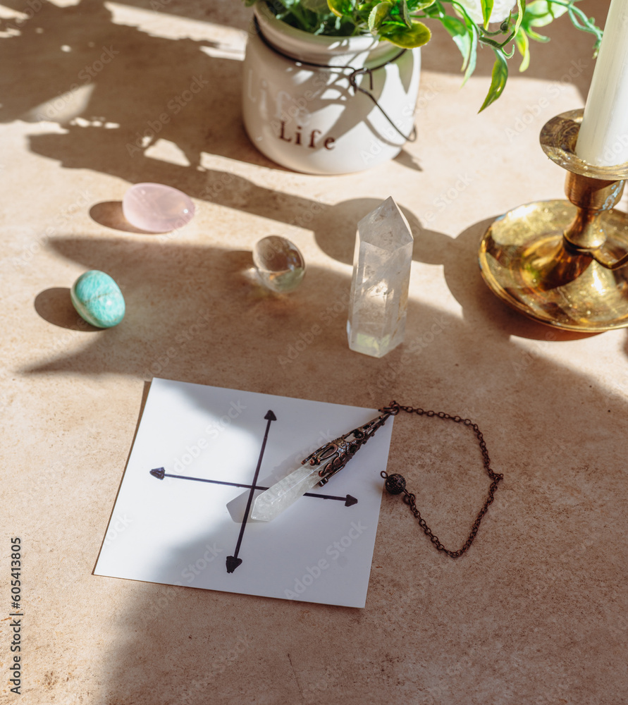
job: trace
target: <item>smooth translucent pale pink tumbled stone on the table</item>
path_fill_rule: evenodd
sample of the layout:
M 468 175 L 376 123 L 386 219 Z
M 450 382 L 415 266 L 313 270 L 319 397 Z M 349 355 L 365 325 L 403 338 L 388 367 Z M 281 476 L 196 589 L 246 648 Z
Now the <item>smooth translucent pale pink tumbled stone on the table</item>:
M 125 193 L 122 212 L 131 225 L 150 233 L 183 228 L 194 216 L 194 204 L 183 191 L 161 183 L 136 183 Z

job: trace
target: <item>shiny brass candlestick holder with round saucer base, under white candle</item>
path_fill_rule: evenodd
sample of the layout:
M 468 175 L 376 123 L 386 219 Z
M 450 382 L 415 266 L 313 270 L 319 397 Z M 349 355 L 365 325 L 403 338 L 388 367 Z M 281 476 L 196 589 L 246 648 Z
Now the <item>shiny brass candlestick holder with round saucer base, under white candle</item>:
M 563 330 L 628 326 L 628 215 L 620 200 L 628 163 L 592 166 L 575 146 L 582 110 L 552 118 L 541 147 L 567 169 L 569 201 L 538 201 L 498 218 L 479 264 L 493 293 L 526 316 Z

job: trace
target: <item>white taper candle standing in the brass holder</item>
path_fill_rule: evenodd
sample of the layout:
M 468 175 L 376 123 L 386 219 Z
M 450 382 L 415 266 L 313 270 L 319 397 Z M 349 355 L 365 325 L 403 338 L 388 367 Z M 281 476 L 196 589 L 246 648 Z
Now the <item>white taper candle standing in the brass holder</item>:
M 611 0 L 576 145 L 596 166 L 628 161 L 628 0 Z

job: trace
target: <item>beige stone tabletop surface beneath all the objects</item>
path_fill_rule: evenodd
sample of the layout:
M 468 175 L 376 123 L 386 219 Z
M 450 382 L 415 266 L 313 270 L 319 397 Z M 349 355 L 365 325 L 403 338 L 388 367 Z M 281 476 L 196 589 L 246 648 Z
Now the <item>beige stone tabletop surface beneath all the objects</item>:
M 460 56 L 437 33 L 417 142 L 376 170 L 326 178 L 271 164 L 245 136 L 240 2 L 30 6 L 23 23 L 21 1 L 1 13 L 1 701 L 18 701 L 6 618 L 18 535 L 25 705 L 625 702 L 627 333 L 534 324 L 476 265 L 495 216 L 562 197 L 538 132 L 584 104 L 589 37 L 560 20 L 477 115 L 491 56 L 460 90 Z M 603 21 L 608 2 L 582 6 Z M 114 58 L 84 81 L 105 47 Z M 196 75 L 209 85 L 129 150 Z M 140 181 L 181 188 L 197 216 L 171 236 L 133 232 L 120 202 Z M 355 223 L 389 195 L 416 247 L 406 343 L 375 360 L 347 348 L 345 313 Z M 271 234 L 309 263 L 289 297 L 247 274 Z M 86 269 L 120 284 L 116 329 L 73 311 L 68 288 Z M 385 496 L 363 610 L 97 577 L 152 376 L 469 415 L 505 479 L 458 560 Z M 471 434 L 399 417 L 388 471 L 406 474 L 445 545 L 462 544 L 487 488 Z

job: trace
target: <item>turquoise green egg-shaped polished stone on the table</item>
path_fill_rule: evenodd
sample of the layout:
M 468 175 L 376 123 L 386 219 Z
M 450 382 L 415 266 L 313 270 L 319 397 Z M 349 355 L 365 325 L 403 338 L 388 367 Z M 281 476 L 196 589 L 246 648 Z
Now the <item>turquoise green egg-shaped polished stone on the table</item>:
M 90 269 L 70 289 L 79 316 L 97 328 L 117 326 L 124 318 L 124 297 L 115 281 L 98 269 Z

